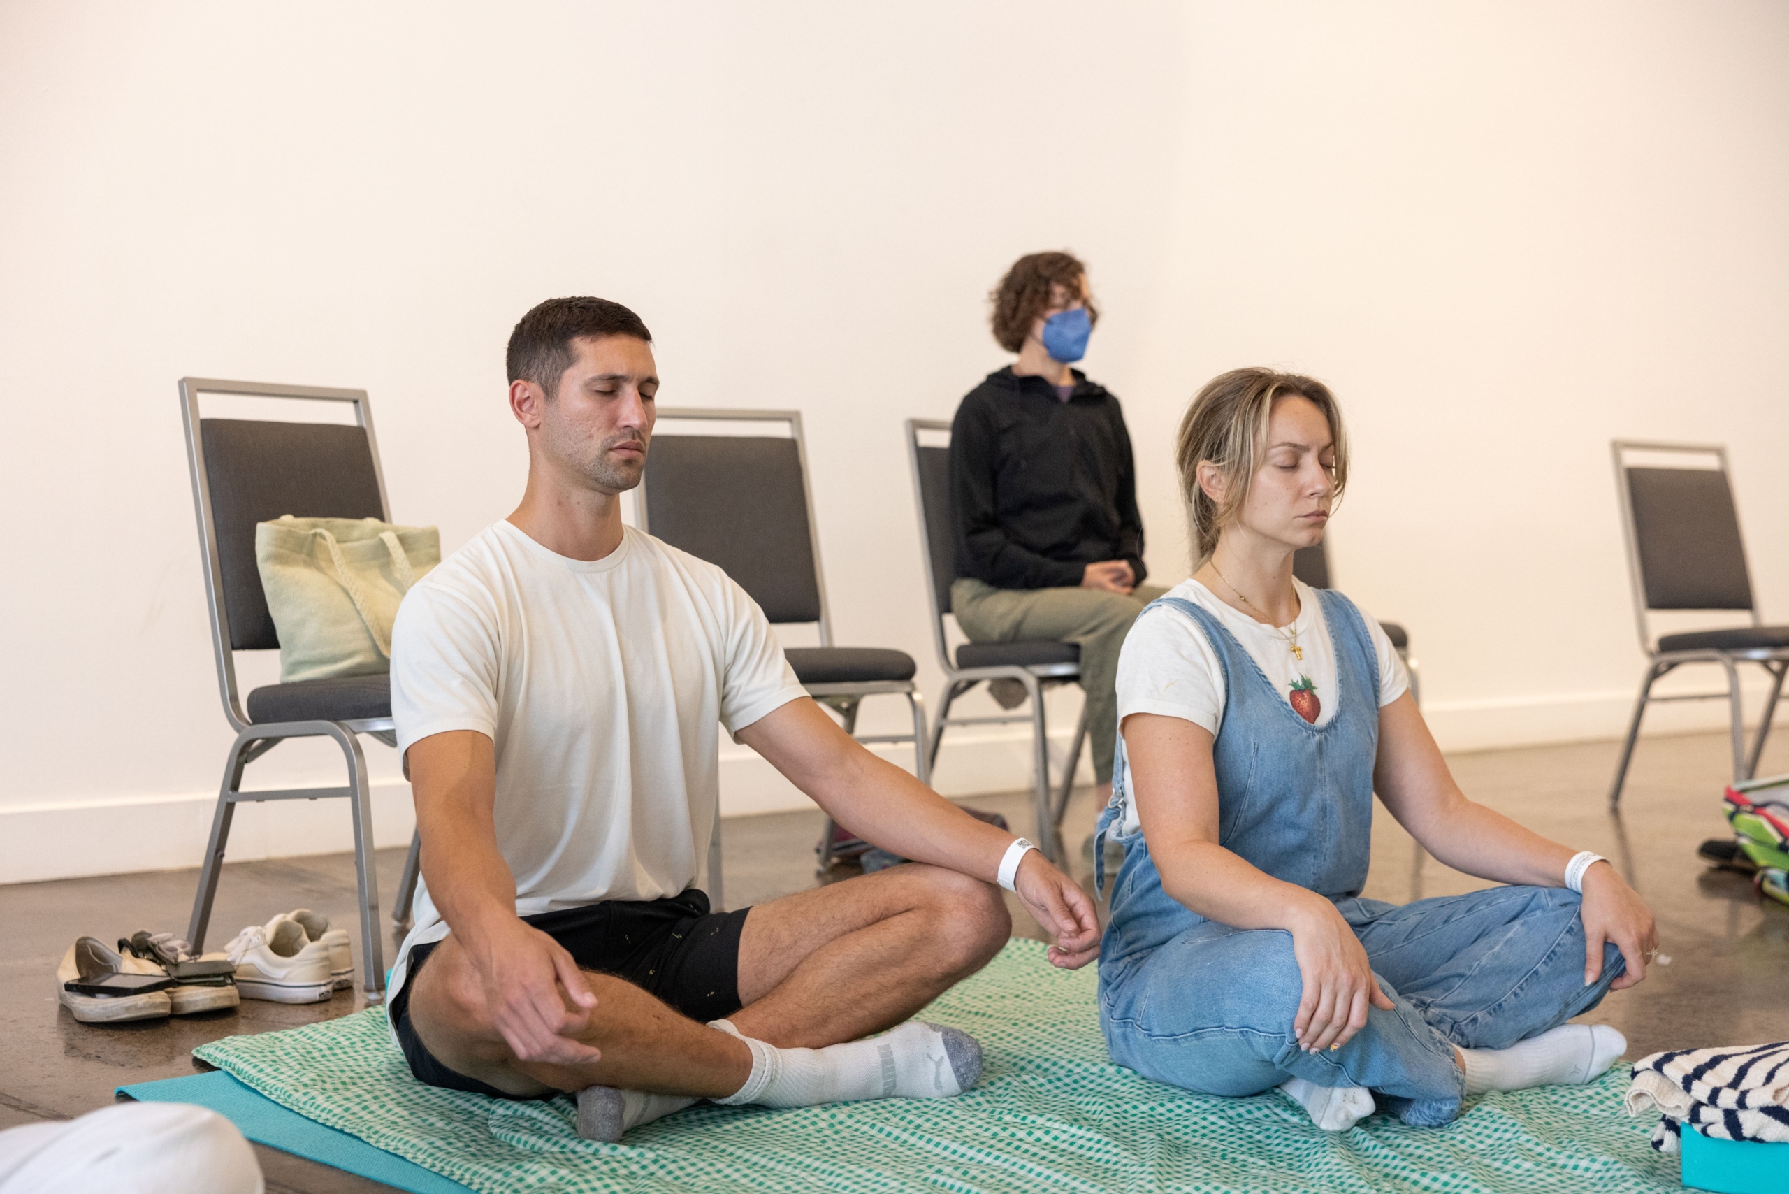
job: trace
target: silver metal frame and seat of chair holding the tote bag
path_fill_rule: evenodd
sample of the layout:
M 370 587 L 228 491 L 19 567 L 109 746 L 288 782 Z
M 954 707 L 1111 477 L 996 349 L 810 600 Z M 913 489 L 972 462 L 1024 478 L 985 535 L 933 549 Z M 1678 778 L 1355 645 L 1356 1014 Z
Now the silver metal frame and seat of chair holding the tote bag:
M 354 426 L 363 435 L 365 449 L 370 455 L 370 480 L 377 492 L 379 508 L 360 508 L 354 507 L 354 498 L 345 498 L 338 499 L 335 508 L 329 508 L 329 503 L 326 501 L 326 508 L 252 510 L 247 514 L 250 535 L 247 551 L 249 560 L 252 560 L 252 526 L 256 521 L 279 517 L 281 514 L 342 517 L 365 517 L 367 514 L 377 514 L 381 519 L 390 521 L 390 505 L 385 498 L 385 473 L 379 469 L 379 446 L 372 431 L 372 412 L 367 406 L 367 392 L 333 390 L 306 385 L 265 385 L 259 381 L 218 381 L 211 378 L 181 378 L 179 388 L 181 419 L 186 430 L 186 462 L 191 469 L 193 482 L 193 510 L 199 517 L 199 544 L 206 573 L 206 605 L 211 616 L 211 648 L 216 657 L 218 693 L 224 700 L 224 716 L 229 720 L 231 729 L 236 730 L 236 741 L 231 745 L 229 755 L 224 763 L 224 782 L 218 789 L 216 811 L 211 818 L 211 840 L 206 845 L 204 865 L 199 872 L 199 891 L 193 897 L 193 918 L 186 929 L 186 938 L 193 943 L 195 951 L 204 949 L 206 929 L 211 922 L 211 904 L 216 897 L 218 875 L 224 865 L 224 850 L 229 843 L 231 820 L 234 818 L 238 804 L 347 797 L 351 818 L 354 822 L 354 870 L 360 883 L 361 985 L 367 992 L 367 1001 L 379 1002 L 385 997 L 385 954 L 379 942 L 379 883 L 372 863 L 372 797 L 367 786 L 367 759 L 360 748 L 360 734 L 370 734 L 388 746 L 397 745 L 392 727 L 388 680 L 383 693 L 383 705 L 376 689 L 379 687 L 377 682 L 385 680 L 385 677 L 349 677 L 351 682 L 363 682 L 343 686 L 336 680 L 309 680 L 306 684 L 274 684 L 259 687 L 254 693 L 249 693 L 245 709 L 245 702 L 236 684 L 234 652 L 277 650 L 279 639 L 272 634 L 272 619 L 265 616 L 265 601 L 259 610 L 243 609 L 245 600 L 252 603 L 254 598 L 261 596 L 258 578 L 254 580 L 252 596 L 238 593 L 238 605 L 234 609 L 231 605 L 231 593 L 225 584 L 225 553 L 233 564 L 240 564 L 240 553 L 245 550 L 245 544 L 233 542 L 229 546 L 220 546 L 218 516 L 213 507 L 213 483 L 216 480 L 229 478 L 231 474 L 218 473 L 213 476 L 213 464 L 218 469 L 227 469 L 227 465 L 218 458 L 208 458 L 209 439 L 218 437 L 222 442 L 222 439 L 227 439 L 233 431 L 247 426 L 258 428 L 265 424 L 268 428 L 286 428 L 288 435 L 311 437 L 313 440 L 317 437 L 333 439 L 336 442 L 329 446 L 329 451 L 340 451 L 347 440 L 338 439 L 338 435 L 340 431 L 351 430 L 342 424 L 204 419 L 199 414 L 200 394 L 315 399 L 326 403 L 351 403 L 354 408 Z M 329 428 L 329 431 L 318 433 L 311 430 L 318 426 Z M 302 428 L 304 431 L 295 431 L 295 428 Z M 367 478 L 361 480 L 365 482 Z M 370 498 L 370 492 L 360 494 L 360 505 L 370 505 L 367 498 Z M 345 508 L 342 501 L 347 501 L 347 505 L 354 508 Z M 243 521 L 245 519 L 240 512 L 233 517 L 238 535 Z M 258 616 L 263 621 L 258 621 Z M 311 686 L 336 687 L 327 689 Z M 343 700 L 343 693 L 351 698 Z M 331 705 L 331 702 L 342 712 L 354 716 L 306 716 L 301 720 L 272 721 L 256 721 L 252 718 L 252 711 L 258 704 L 274 707 L 286 705 L 288 709 L 292 705 L 306 705 L 313 711 L 329 712 L 327 705 Z M 347 761 L 347 786 L 243 791 L 243 770 L 290 738 L 333 739 L 342 748 L 342 755 Z M 413 849 L 415 847 L 411 847 L 411 850 Z

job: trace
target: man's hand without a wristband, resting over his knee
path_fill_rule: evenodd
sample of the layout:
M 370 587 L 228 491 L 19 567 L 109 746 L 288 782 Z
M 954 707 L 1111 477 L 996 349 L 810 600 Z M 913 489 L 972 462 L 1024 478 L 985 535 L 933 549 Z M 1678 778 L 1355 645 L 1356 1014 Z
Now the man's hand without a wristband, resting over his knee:
M 521 1062 L 578 1065 L 603 1054 L 578 1040 L 590 1028 L 596 995 L 578 963 L 540 929 L 510 913 L 463 942 L 485 986 L 492 1026 Z

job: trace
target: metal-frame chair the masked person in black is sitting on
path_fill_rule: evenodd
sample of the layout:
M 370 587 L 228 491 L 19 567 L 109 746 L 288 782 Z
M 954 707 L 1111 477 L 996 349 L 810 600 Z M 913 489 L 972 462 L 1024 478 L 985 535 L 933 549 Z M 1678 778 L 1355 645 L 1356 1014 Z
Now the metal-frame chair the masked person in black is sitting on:
M 1034 752 L 1034 798 L 1038 806 L 1038 849 L 1052 863 L 1064 861 L 1061 847 L 1063 813 L 1068 809 L 1068 797 L 1075 786 L 1075 768 L 1081 763 L 1081 748 L 1088 738 L 1088 711 L 1081 707 L 1081 721 L 1075 725 L 1075 745 L 1068 752 L 1063 768 L 1063 786 L 1052 800 L 1050 793 L 1050 739 L 1045 723 L 1043 689 L 1054 684 L 1081 682 L 1081 650 L 1072 643 L 1056 639 L 1034 643 L 971 643 L 971 657 L 988 655 L 995 662 L 979 666 L 959 666 L 964 648 L 957 648 L 952 657 L 950 643 L 945 635 L 945 614 L 950 612 L 950 582 L 955 580 L 954 539 L 950 535 L 950 489 L 948 480 L 941 490 L 945 508 L 927 501 L 927 482 L 934 485 L 939 478 L 948 478 L 948 448 L 930 448 L 920 444 L 921 433 L 950 435 L 950 424 L 936 419 L 907 419 L 907 460 L 912 464 L 912 496 L 920 514 L 920 548 L 925 557 L 925 594 L 932 607 L 932 644 L 937 648 L 937 664 L 945 669 L 945 695 L 937 702 L 937 714 L 932 720 L 930 763 L 937 763 L 937 745 L 945 738 L 946 725 L 1007 725 L 1030 721 Z M 928 453 L 937 453 L 936 456 Z M 928 478 L 928 473 L 934 474 Z M 937 532 L 937 533 L 934 533 Z M 1030 712 L 1013 712 L 986 718 L 952 718 L 950 705 L 984 680 L 1018 680 L 1030 698 Z

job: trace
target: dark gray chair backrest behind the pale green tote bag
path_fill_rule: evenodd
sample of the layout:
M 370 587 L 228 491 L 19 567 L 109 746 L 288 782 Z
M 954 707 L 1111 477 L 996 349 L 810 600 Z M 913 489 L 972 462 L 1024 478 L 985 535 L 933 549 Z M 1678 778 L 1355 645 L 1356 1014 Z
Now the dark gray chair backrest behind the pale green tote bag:
M 367 430 L 200 419 L 199 439 L 229 644 L 238 652 L 277 650 L 279 634 L 254 562 L 254 525 L 283 514 L 388 521 Z

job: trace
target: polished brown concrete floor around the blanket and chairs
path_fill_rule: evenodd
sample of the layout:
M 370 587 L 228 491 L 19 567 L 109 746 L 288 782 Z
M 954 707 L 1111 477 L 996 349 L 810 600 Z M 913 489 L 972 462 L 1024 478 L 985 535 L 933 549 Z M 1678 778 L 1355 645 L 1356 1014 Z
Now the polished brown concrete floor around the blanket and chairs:
M 1655 968 L 1646 983 L 1612 995 L 1585 1017 L 1626 1033 L 1630 1056 L 1789 1036 L 1789 908 L 1760 904 L 1746 877 L 1710 870 L 1696 857 L 1696 843 L 1726 832 L 1719 814 L 1726 738 L 1644 741 L 1619 818 L 1605 806 L 1614 757 L 1614 743 L 1578 743 L 1454 755 L 1449 763 L 1471 797 L 1551 838 L 1608 856 L 1651 902 L 1660 949 L 1671 965 Z M 1789 772 L 1789 734 L 1776 736 L 1759 770 Z M 1018 832 L 1032 825 L 1023 795 L 966 804 L 1004 813 Z M 1091 793 L 1077 793 L 1064 838 L 1084 883 L 1091 883 L 1091 874 L 1079 845 L 1093 816 Z M 812 886 L 819 825 L 819 813 L 728 822 L 728 904 L 760 904 Z M 395 890 L 401 866 L 401 850 L 379 852 L 383 891 Z M 77 1024 L 57 1004 L 52 977 L 68 943 L 82 933 L 109 942 L 145 927 L 184 931 L 195 881 L 197 872 L 175 870 L 0 888 L 0 924 L 7 925 L 9 942 L 0 959 L 0 1128 L 79 1115 L 106 1104 L 123 1083 L 190 1074 L 191 1049 L 208 1040 L 292 1028 L 363 1006 L 356 990 L 311 1006 L 243 1001 L 240 1011 L 202 1017 L 111 1028 Z M 1481 886 L 1488 884 L 1424 857 L 1381 811 L 1367 895 L 1404 902 Z M 213 942 L 299 906 L 349 927 L 358 942 L 352 856 L 225 866 Z M 1036 934 L 1016 904 L 1013 913 L 1016 933 Z M 258 1153 L 274 1192 L 388 1189 L 274 1149 Z

